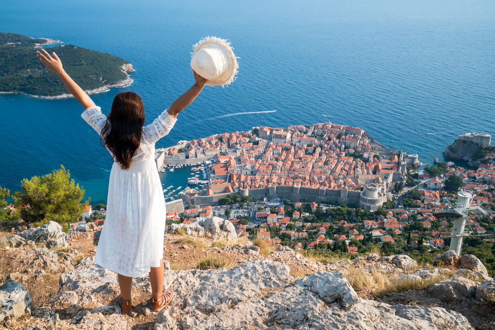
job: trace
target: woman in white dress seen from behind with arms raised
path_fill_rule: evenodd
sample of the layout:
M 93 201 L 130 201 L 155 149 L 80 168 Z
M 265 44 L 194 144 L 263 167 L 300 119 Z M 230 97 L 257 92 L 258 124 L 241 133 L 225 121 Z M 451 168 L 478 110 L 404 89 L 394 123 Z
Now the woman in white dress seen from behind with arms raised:
M 144 105 L 139 95 L 133 92 L 117 94 L 106 118 L 63 70 L 55 52 L 52 57 L 42 49 L 42 52 L 37 51 L 37 56 L 82 104 L 85 110 L 81 116 L 98 132 L 114 159 L 105 224 L 95 262 L 118 274 L 119 305 L 123 314 L 131 312 L 132 278 L 147 273 L 151 283 L 152 308 L 159 311 L 170 302 L 173 292 L 163 290 L 166 210 L 154 162 L 154 144 L 170 132 L 177 114 L 198 96 L 206 79 L 193 71 L 196 83 L 144 127 Z

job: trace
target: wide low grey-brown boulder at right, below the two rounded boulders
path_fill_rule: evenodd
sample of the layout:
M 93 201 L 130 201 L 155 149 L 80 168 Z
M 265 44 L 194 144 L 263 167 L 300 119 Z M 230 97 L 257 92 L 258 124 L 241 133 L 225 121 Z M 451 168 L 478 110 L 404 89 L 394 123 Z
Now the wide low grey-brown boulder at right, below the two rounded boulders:
M 432 296 L 443 301 L 459 303 L 472 299 L 476 294 L 476 287 L 480 283 L 462 277 L 454 276 L 450 279 L 433 283 L 426 289 Z

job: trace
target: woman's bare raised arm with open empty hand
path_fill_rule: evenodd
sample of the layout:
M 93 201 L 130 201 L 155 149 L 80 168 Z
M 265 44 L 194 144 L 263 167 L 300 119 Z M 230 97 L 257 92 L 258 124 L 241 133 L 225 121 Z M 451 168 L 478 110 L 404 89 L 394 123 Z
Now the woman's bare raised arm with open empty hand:
M 84 93 L 82 88 L 77 85 L 72 78 L 64 71 L 62 68 L 62 61 L 58 58 L 57 54 L 53 52 L 53 57 L 45 50 L 41 49 L 41 51 L 36 52 L 36 56 L 40 59 L 40 61 L 49 69 L 51 72 L 56 74 L 58 78 L 62 81 L 65 87 L 69 90 L 70 94 L 74 95 L 74 97 L 81 103 L 81 105 L 86 110 L 89 107 L 95 106 L 95 102 L 88 96 L 88 94 Z

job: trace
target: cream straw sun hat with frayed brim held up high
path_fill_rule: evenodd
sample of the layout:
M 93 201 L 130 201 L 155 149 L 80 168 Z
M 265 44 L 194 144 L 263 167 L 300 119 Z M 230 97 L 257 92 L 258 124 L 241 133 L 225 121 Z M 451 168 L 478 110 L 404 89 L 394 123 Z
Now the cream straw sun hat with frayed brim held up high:
M 236 77 L 237 59 L 234 48 L 225 39 L 206 37 L 193 46 L 191 67 L 201 77 L 207 79 L 206 85 L 226 86 Z

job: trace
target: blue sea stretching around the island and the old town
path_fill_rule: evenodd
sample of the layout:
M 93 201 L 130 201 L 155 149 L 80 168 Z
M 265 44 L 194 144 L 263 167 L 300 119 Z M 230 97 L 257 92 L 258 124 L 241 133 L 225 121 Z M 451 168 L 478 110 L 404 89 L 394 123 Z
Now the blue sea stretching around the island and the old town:
M 130 61 L 125 90 L 143 97 L 146 124 L 194 83 L 192 45 L 229 39 L 237 81 L 206 87 L 157 147 L 331 121 L 429 163 L 459 134 L 495 136 L 494 17 L 492 0 L 24 0 L 2 1 L 0 31 Z M 107 112 L 122 90 L 92 98 Z M 85 198 L 105 202 L 112 160 L 82 111 L 73 98 L 0 95 L 0 186 L 63 164 Z M 185 186 L 173 177 L 165 187 Z

